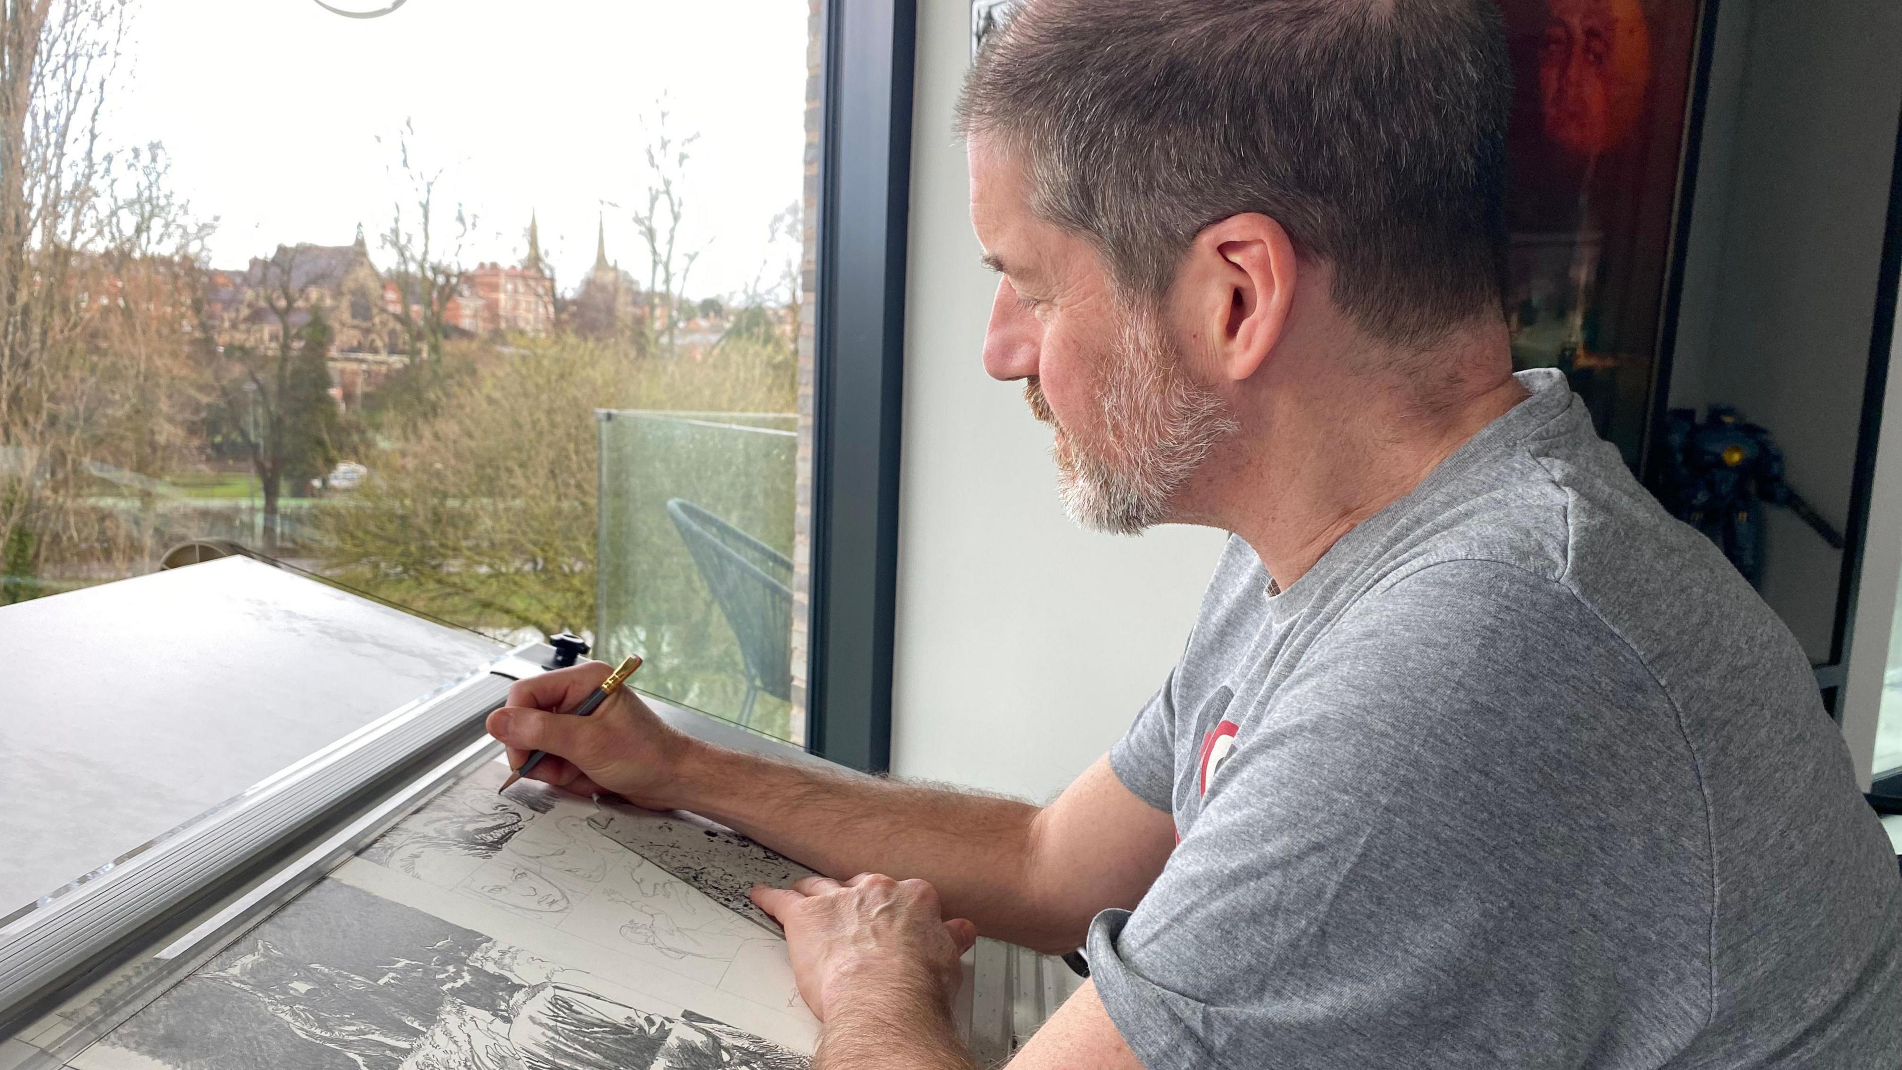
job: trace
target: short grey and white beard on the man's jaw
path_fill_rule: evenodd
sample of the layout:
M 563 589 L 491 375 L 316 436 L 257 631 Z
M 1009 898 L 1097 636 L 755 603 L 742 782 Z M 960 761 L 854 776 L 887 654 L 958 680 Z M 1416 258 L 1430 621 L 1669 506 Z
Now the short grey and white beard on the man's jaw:
M 1105 442 L 1082 449 L 1056 423 L 1037 379 L 1031 413 L 1056 428 L 1063 510 L 1084 527 L 1137 535 L 1170 520 L 1170 505 L 1210 451 L 1238 430 L 1213 390 L 1183 373 L 1181 350 L 1149 312 L 1130 312 L 1097 394 Z

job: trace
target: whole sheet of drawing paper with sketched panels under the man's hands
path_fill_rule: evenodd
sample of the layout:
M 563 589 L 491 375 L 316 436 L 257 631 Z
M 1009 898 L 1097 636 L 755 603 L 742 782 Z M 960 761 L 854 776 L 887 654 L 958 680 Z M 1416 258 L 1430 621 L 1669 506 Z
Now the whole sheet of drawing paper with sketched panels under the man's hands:
M 498 796 L 506 771 L 451 786 L 72 1066 L 808 1066 L 784 939 L 609 836 L 626 807 Z M 759 864 L 704 840 L 708 868 Z

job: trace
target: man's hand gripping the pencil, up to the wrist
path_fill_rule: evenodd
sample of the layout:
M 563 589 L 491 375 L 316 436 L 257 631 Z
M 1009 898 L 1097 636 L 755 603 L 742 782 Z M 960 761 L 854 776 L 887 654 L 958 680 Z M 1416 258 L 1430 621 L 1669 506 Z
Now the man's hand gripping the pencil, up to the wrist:
M 647 809 L 681 805 L 683 765 L 698 744 L 656 718 L 633 689 L 614 691 L 586 718 L 559 712 L 582 704 L 609 672 L 609 664 L 584 661 L 517 680 L 508 704 L 489 714 L 489 735 L 508 744 L 510 769 L 521 769 L 533 750 L 548 752 L 529 771 L 531 781 L 580 796 L 618 794 Z

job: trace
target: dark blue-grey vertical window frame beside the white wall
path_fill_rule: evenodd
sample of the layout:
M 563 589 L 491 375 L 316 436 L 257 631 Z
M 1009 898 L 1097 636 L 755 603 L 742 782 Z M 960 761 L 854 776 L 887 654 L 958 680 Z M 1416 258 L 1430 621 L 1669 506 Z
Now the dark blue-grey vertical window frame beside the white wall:
M 913 0 L 825 0 L 806 748 L 892 760 Z

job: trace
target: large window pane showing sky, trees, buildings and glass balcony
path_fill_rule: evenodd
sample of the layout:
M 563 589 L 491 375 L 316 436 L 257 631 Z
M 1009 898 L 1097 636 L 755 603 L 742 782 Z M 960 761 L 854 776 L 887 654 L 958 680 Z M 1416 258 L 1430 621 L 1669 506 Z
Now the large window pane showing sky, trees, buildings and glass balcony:
M 816 0 L 36 29 L 0 604 L 224 541 L 803 735 Z

